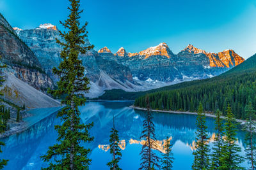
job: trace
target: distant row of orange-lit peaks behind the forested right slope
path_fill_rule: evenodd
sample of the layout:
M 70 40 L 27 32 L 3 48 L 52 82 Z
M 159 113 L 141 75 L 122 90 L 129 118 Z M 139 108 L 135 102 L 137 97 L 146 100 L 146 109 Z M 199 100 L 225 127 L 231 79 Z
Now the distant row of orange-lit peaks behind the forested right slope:
M 107 48 L 107 47 L 105 47 Z M 173 82 L 211 78 L 241 64 L 244 59 L 233 50 L 220 53 L 207 53 L 188 45 L 177 55 L 166 43 L 150 47 L 138 53 L 126 52 L 120 48 L 115 54 L 102 52 L 104 59 L 115 60 L 131 69 L 135 80 Z

